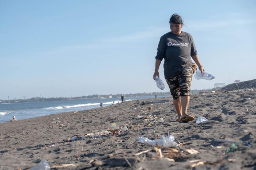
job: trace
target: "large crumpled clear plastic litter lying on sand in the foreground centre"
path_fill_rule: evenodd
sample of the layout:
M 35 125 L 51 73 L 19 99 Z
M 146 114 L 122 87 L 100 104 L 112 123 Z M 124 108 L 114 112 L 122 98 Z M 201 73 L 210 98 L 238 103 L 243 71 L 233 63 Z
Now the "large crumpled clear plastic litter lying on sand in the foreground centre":
M 174 142 L 175 138 L 173 135 L 169 135 L 167 137 L 162 136 L 162 139 L 158 140 L 150 140 L 146 137 L 139 137 L 139 142 L 141 143 L 149 143 L 151 145 L 159 145 L 159 146 L 166 146 L 166 147 L 176 147 L 178 144 Z

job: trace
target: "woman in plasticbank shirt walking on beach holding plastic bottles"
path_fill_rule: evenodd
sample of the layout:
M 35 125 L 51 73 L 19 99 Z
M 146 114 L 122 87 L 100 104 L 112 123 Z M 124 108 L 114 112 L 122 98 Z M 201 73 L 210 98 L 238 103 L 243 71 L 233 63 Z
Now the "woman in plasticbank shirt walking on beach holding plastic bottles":
M 174 13 L 169 23 L 171 31 L 161 36 L 158 44 L 153 79 L 155 76 L 159 77 L 158 69 L 164 58 L 164 75 L 173 96 L 173 105 L 178 114 L 176 121 L 189 122 L 195 119 L 187 114 L 193 75 L 193 63 L 190 56 L 201 72 L 204 72 L 204 68 L 197 56 L 192 36 L 181 31 L 183 26 L 181 17 Z

